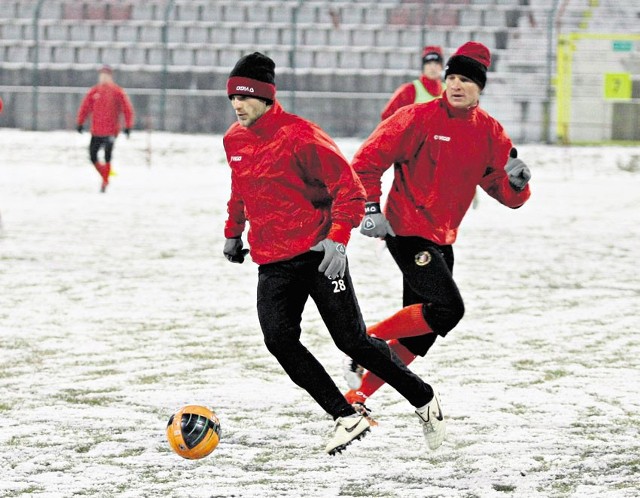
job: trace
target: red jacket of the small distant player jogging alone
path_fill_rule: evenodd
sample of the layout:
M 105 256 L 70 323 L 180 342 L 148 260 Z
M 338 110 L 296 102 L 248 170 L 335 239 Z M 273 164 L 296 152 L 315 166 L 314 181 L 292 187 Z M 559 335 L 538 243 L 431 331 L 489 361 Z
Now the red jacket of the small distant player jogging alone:
M 115 83 L 92 87 L 80 105 L 78 124 L 91 114 L 91 134 L 99 137 L 120 133 L 120 114 L 124 114 L 125 128 L 133 127 L 134 113 L 129 97 Z

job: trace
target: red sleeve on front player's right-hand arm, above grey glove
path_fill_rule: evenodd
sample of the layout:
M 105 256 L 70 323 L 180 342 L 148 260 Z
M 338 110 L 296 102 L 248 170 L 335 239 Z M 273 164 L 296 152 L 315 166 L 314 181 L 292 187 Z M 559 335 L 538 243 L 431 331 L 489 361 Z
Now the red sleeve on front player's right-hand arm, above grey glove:
M 327 237 L 346 245 L 351 230 L 364 217 L 364 188 L 333 140 L 319 130 L 315 134 L 313 140 L 300 141 L 295 154 L 313 179 L 326 186 L 333 200 Z

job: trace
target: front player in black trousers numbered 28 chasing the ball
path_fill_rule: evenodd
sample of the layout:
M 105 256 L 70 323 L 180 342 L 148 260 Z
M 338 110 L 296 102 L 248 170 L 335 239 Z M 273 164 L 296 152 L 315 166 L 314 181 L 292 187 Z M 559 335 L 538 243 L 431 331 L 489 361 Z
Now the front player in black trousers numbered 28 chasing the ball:
M 227 93 L 238 121 L 224 136 L 231 198 L 223 252 L 231 262 L 244 261 L 241 235 L 248 221 L 251 257 L 260 265 L 258 318 L 265 344 L 336 421 L 326 446 L 334 454 L 368 431 L 369 420 L 300 342 L 309 297 L 338 348 L 416 408 L 429 406 L 433 389 L 385 341 L 366 334 L 346 256 L 351 230 L 363 216 L 364 189 L 348 161 L 317 125 L 282 109 L 268 57 L 256 52 L 240 59 Z

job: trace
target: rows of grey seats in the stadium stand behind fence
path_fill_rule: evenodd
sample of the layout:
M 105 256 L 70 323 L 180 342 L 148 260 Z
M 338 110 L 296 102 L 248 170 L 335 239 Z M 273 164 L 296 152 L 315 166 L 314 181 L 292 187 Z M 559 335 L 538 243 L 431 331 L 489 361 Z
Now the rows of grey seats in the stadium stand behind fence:
M 36 3 L 3 3 L 0 85 L 31 84 L 24 70 L 32 68 L 36 53 Z M 562 4 L 563 28 L 579 29 L 589 2 Z M 152 88 L 159 88 L 165 61 L 166 5 L 166 0 L 45 0 L 38 33 L 41 84 L 67 79 L 90 84 L 95 67 L 108 63 L 127 88 L 148 88 L 150 82 Z M 354 132 L 362 135 L 376 124 L 385 98 L 400 83 L 415 78 L 422 44 L 442 45 L 448 56 L 462 43 L 477 40 L 488 45 L 493 54 L 483 105 L 507 124 L 516 139 L 539 140 L 551 5 L 552 0 L 176 0 L 166 26 L 168 80 L 176 91 L 223 90 L 236 60 L 260 50 L 278 65 L 280 91 L 292 89 L 295 74 L 299 94 L 375 95 L 356 111 L 361 123 Z M 609 22 L 628 17 L 628 9 L 619 2 L 612 5 L 613 14 L 616 8 L 620 12 L 608 17 Z M 607 27 L 603 23 L 603 28 Z M 60 72 L 76 76 L 67 78 Z M 304 107 L 307 117 L 332 132 L 352 132 L 339 120 L 348 121 L 344 113 L 354 112 L 353 108 L 345 111 L 339 102 L 342 112 L 334 116 L 336 106 L 324 105 L 326 100 L 305 99 L 309 99 Z M 152 110 L 145 112 L 151 114 Z M 209 125 L 213 128 L 202 131 L 222 131 L 228 122 L 227 114 Z M 170 127 L 178 130 L 183 125 L 172 122 Z

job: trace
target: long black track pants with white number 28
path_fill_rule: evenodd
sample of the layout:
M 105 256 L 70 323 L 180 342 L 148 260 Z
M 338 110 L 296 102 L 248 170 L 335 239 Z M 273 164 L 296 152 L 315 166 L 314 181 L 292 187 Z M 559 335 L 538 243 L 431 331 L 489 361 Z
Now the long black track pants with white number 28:
M 309 252 L 260 266 L 258 317 L 269 351 L 291 380 L 331 416 L 353 413 L 329 374 L 300 342 L 302 311 L 311 296 L 341 351 L 384 379 L 412 405 L 428 403 L 433 397 L 431 387 L 404 366 L 385 341 L 367 336 L 348 268 L 344 278 L 329 280 L 318 271 L 322 256 Z

